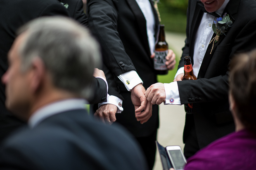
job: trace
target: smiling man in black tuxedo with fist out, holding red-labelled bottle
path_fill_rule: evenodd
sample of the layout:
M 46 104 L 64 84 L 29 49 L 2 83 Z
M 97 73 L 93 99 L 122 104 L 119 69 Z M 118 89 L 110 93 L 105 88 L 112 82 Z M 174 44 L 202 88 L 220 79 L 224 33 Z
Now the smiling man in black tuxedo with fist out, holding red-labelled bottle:
M 204 13 L 205 11 L 205 13 Z M 213 21 L 227 13 L 232 26 L 220 35 L 213 33 Z M 175 82 L 154 84 L 145 96 L 153 104 L 192 104 L 186 114 L 183 133 L 188 158 L 210 142 L 235 130 L 228 103 L 229 63 L 236 53 L 256 47 L 255 0 L 189 0 L 187 39 Z M 209 44 L 211 42 L 211 44 Z M 181 81 L 184 57 L 192 60 L 197 80 Z

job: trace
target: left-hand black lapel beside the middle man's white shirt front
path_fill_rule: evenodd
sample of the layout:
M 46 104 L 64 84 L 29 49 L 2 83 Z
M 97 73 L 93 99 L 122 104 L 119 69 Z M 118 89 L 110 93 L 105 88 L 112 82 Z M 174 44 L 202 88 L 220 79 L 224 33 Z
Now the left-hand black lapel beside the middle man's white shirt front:
M 133 14 L 135 15 L 137 24 L 139 25 L 139 30 L 142 35 L 142 43 L 145 47 L 145 50 L 147 51 L 148 55 L 151 55 L 150 49 L 149 49 L 149 42 L 147 39 L 147 23 L 146 19 L 137 4 L 136 0 L 126 0 L 128 2 L 128 5 L 130 6 L 131 10 L 133 11 Z

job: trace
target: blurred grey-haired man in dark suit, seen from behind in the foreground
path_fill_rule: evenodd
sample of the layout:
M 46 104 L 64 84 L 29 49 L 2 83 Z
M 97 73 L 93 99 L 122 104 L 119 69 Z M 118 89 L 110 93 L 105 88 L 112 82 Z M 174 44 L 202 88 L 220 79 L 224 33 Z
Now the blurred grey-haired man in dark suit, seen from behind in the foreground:
M 64 17 L 19 31 L 2 76 L 6 107 L 28 122 L 0 148 L 0 169 L 146 170 L 140 148 L 119 126 L 85 109 L 100 50 L 88 30 Z

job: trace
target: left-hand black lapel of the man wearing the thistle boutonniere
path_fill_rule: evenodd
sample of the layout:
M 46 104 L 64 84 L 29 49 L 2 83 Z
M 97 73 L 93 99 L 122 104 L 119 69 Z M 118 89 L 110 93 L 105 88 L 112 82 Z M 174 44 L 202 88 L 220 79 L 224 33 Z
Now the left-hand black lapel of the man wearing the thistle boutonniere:
M 197 29 L 198 29 L 198 26 L 200 25 L 200 22 L 201 22 L 201 18 L 204 14 L 203 11 L 201 11 L 201 9 L 196 5 L 196 7 L 194 8 L 195 11 L 194 11 L 194 15 L 192 16 L 192 24 L 191 24 L 191 29 L 190 29 L 190 57 L 191 57 L 191 61 L 192 61 L 192 64 L 194 63 L 193 62 L 193 55 L 194 55 L 194 37 L 197 33 Z M 193 13 L 192 13 L 193 14 Z

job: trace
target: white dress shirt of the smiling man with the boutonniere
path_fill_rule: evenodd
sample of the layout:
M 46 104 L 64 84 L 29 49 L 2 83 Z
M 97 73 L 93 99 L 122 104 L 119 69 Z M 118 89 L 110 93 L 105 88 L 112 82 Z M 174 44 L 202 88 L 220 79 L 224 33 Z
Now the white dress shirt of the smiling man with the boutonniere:
M 216 14 L 220 16 L 223 13 L 228 2 L 229 0 L 225 0 L 225 2 L 220 7 L 220 9 L 216 11 Z M 216 21 L 216 19 L 217 17 L 204 13 L 201 19 L 199 28 L 197 30 L 197 33 L 195 36 L 194 55 L 193 55 L 193 60 L 194 60 L 193 72 L 196 77 L 198 76 L 199 69 L 204 59 L 204 55 L 211 41 L 211 37 L 213 36 L 214 32 L 212 30 L 212 24 L 213 24 L 213 21 Z M 182 74 L 182 73 L 184 73 L 184 67 L 181 67 L 180 69 L 178 69 L 175 77 L 178 76 L 178 74 Z M 164 104 L 181 105 L 177 82 L 164 83 L 164 89 L 166 92 L 166 100 Z

